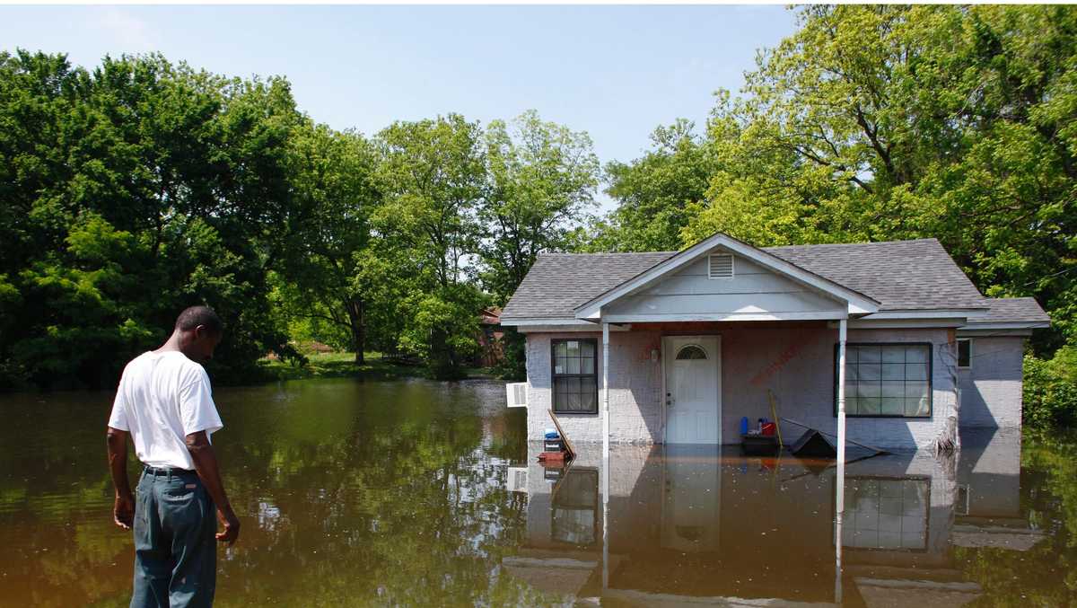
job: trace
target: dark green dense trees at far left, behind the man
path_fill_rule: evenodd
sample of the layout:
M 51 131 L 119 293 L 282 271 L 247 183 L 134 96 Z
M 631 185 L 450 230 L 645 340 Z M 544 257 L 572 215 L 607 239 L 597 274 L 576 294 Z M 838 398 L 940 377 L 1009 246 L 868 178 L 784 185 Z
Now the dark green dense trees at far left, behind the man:
M 214 306 L 219 375 L 249 377 L 268 321 L 265 235 L 288 205 L 286 82 L 157 55 L 0 55 L 0 382 L 107 386 L 177 310 Z

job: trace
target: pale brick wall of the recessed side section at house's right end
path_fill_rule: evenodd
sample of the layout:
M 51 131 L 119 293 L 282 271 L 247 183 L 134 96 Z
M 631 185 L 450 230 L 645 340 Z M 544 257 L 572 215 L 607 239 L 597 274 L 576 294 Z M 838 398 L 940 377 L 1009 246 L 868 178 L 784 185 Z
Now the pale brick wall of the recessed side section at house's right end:
M 961 426 L 1021 426 L 1024 338 L 973 337 L 971 369 L 961 370 Z

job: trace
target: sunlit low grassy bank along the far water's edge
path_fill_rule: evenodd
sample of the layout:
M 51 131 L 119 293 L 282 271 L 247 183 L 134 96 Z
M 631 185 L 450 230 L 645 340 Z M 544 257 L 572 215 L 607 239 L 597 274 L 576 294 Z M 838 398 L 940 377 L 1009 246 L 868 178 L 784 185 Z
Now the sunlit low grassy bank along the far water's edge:
M 266 375 L 271 379 L 307 379 L 355 377 L 365 379 L 396 379 L 409 377 L 431 377 L 425 365 L 405 364 L 383 359 L 380 353 L 364 353 L 363 364 L 355 364 L 354 353 L 313 353 L 307 355 L 305 365 L 263 359 Z M 493 377 L 485 368 L 464 369 L 465 377 Z

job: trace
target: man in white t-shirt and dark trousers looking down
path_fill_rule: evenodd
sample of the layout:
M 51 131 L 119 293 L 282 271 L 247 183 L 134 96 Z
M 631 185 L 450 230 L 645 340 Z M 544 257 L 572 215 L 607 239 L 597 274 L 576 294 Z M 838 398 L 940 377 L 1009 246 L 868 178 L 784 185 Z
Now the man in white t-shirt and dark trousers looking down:
M 224 425 L 200 364 L 213 357 L 222 330 L 211 308 L 192 306 L 176 319 L 168 342 L 132 359 L 120 379 L 109 417 L 109 469 L 114 521 L 135 528 L 132 608 L 211 606 L 214 538 L 230 545 L 239 537 L 210 444 Z M 145 466 L 137 496 L 127 480 L 128 437 Z

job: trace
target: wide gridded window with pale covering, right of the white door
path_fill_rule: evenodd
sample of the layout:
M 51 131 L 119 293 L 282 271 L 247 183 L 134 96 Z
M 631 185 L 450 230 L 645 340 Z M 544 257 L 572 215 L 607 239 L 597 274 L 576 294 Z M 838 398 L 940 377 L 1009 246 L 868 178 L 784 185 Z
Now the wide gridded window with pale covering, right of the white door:
M 837 386 L 837 349 L 835 353 Z M 931 365 L 929 344 L 847 345 L 845 415 L 931 416 Z

